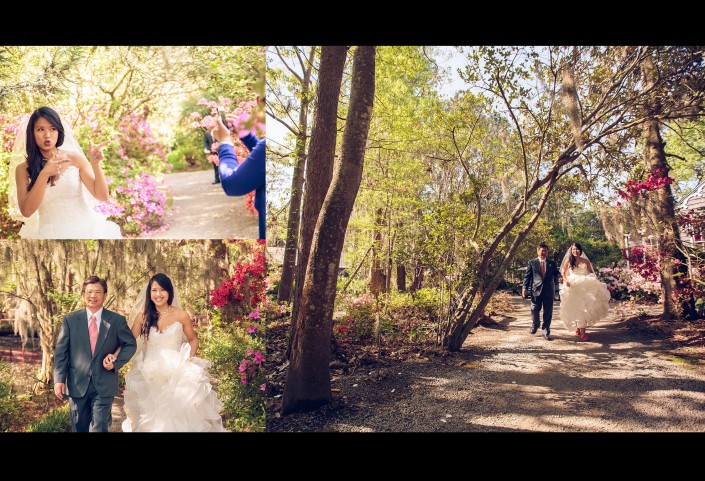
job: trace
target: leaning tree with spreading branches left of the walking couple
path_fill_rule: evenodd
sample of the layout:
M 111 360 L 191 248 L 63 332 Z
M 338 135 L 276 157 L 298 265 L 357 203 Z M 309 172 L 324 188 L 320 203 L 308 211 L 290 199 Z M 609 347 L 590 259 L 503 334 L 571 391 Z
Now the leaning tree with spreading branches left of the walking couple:
M 479 322 L 516 250 L 541 216 L 553 190 L 576 172 L 613 163 L 616 137 L 632 137 L 650 115 L 641 108 L 681 82 L 684 69 L 702 62 L 663 52 L 674 63 L 652 89 L 640 88 L 647 47 L 534 49 L 481 47 L 464 78 L 493 95 L 514 126 L 521 196 L 506 222 L 483 242 L 477 268 L 461 286 L 444 338 L 461 348 Z M 678 65 L 675 65 L 678 64 Z M 691 75 L 702 72 L 690 69 Z M 693 99 L 689 99 L 692 102 Z M 697 99 L 696 99 L 697 100 Z M 691 105 L 672 102 L 663 115 L 690 115 Z M 609 142 L 608 142 L 609 140 Z

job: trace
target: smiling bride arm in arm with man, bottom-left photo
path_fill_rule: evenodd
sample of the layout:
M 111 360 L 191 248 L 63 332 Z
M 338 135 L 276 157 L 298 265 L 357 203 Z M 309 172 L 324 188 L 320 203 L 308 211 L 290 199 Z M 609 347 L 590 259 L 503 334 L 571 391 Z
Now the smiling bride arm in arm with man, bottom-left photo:
M 223 403 L 209 380 L 210 362 L 195 357 L 198 338 L 168 276 L 152 276 L 128 323 L 137 338 L 137 353 L 125 376 L 127 418 L 122 430 L 225 431 Z

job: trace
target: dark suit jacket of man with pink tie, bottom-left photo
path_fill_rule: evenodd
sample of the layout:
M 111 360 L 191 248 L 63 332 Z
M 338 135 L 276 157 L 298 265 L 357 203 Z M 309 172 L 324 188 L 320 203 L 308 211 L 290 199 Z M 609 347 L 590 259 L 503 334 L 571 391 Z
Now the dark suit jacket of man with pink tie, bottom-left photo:
M 103 367 L 103 359 L 121 347 L 113 369 Z M 95 345 L 95 355 L 91 356 L 91 343 L 88 337 L 88 315 L 85 309 L 64 316 L 56 341 L 54 353 L 54 383 L 63 382 L 71 397 L 83 397 L 88 390 L 88 382 L 93 385 L 100 397 L 118 394 L 118 370 L 135 354 L 137 341 L 127 326 L 125 316 L 103 308 Z

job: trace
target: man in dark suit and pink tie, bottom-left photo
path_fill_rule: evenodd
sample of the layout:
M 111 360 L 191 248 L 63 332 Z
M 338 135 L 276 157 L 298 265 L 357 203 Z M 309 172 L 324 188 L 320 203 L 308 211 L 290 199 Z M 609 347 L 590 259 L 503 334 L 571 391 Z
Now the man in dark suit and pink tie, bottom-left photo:
M 81 291 L 85 309 L 64 316 L 54 353 L 54 394 L 68 391 L 74 432 L 107 432 L 118 370 L 137 349 L 125 317 L 103 308 L 108 285 L 90 276 Z M 117 359 L 113 353 L 122 348 Z M 68 389 L 67 389 L 68 387 Z

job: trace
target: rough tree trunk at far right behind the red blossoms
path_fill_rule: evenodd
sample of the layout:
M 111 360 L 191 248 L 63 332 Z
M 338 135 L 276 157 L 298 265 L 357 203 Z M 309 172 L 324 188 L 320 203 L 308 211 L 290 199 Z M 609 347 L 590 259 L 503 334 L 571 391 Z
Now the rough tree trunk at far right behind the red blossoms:
M 650 89 L 656 82 L 656 69 L 652 58 L 646 57 L 641 65 L 644 79 L 644 89 Z M 664 143 L 661 138 L 659 123 L 656 118 L 661 108 L 658 99 L 651 100 L 647 106 L 654 117 L 643 124 L 644 132 L 644 163 L 651 173 L 668 175 L 670 166 L 666 161 Z M 661 285 L 663 286 L 663 318 L 664 319 L 693 319 L 695 318 L 695 300 L 692 294 L 680 293 L 683 288 L 689 287 L 688 259 L 684 255 L 685 247 L 681 242 L 680 230 L 675 215 L 675 201 L 670 185 L 649 192 L 647 196 L 649 211 L 656 222 L 656 232 L 661 259 Z

